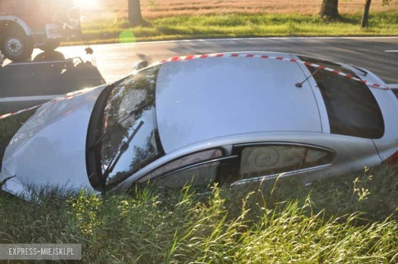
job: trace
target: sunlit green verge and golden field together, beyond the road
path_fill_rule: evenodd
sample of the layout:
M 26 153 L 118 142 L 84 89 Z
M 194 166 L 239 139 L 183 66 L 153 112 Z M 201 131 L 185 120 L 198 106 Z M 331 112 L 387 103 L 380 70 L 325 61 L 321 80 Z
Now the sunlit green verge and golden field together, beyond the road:
M 340 18 L 318 13 L 322 0 L 141 0 L 141 27 L 127 22 L 128 0 L 76 0 L 85 38 L 92 44 L 152 40 L 286 36 L 397 36 L 398 1 L 372 1 L 369 28 L 361 29 L 363 0 L 339 1 Z M 81 38 L 63 45 L 83 44 Z

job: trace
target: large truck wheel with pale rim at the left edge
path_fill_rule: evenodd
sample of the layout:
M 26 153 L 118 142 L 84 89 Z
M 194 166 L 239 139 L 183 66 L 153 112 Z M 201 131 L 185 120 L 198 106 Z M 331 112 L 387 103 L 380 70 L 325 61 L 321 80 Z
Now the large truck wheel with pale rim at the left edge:
M 0 51 L 7 59 L 17 62 L 28 60 L 34 43 L 30 36 L 18 31 L 6 31 L 0 36 Z

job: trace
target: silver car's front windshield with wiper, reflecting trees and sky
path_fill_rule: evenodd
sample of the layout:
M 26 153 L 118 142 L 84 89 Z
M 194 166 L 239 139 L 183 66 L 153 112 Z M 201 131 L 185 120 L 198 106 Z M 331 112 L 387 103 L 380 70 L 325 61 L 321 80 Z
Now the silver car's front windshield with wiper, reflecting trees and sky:
M 122 153 L 106 185 L 113 186 L 162 156 L 155 111 L 156 80 L 160 66 L 132 75 L 116 85 L 103 110 L 100 146 L 102 174 L 122 151 L 138 125 L 134 139 Z M 134 111 L 134 112 L 133 112 Z M 127 117 L 127 118 L 126 118 Z

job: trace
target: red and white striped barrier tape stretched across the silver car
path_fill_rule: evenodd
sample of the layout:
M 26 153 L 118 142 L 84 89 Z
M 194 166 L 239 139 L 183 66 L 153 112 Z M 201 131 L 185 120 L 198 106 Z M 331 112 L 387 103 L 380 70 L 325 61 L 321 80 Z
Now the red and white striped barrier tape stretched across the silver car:
M 386 87 L 386 86 L 382 86 L 382 85 L 375 84 L 375 83 L 370 83 L 370 82 L 361 80 L 361 79 L 359 79 L 359 78 L 356 78 L 356 77 L 354 77 L 354 76 L 351 76 L 351 75 L 349 75 L 349 74 L 343 73 L 343 72 L 341 72 L 341 71 L 338 71 L 338 70 L 335 70 L 335 69 L 331 69 L 331 68 L 328 68 L 328 67 L 325 67 L 325 66 L 320 66 L 320 65 L 317 65 L 317 64 L 315 64 L 315 63 L 310 63 L 310 62 L 300 61 L 300 60 L 295 60 L 295 59 L 282 58 L 282 57 L 267 56 L 267 55 L 254 55 L 254 54 L 205 54 L 205 55 L 190 55 L 190 56 L 182 56 L 182 57 L 168 58 L 168 59 L 159 61 L 159 62 L 157 62 L 157 63 L 155 63 L 155 64 L 153 64 L 153 65 L 163 64 L 163 63 L 167 63 L 167 62 L 189 61 L 189 60 L 205 59 L 205 58 L 237 58 L 237 57 L 240 57 L 240 58 L 245 57 L 245 58 L 270 59 L 270 60 L 278 60 L 278 61 L 287 61 L 287 62 L 301 63 L 301 64 L 304 64 L 304 65 L 306 65 L 306 66 L 311 66 L 311 67 L 314 67 L 314 68 L 317 68 L 317 69 L 322 69 L 322 70 L 327 70 L 327 71 L 333 72 L 333 73 L 335 73 L 335 74 L 338 74 L 338 75 L 341 75 L 341 76 L 343 76 L 343 77 L 349 78 L 349 79 L 351 79 L 351 80 L 353 80 L 353 81 L 357 81 L 357 82 L 363 83 L 363 84 L 365 84 L 365 85 L 367 85 L 367 86 L 369 86 L 369 87 L 374 87 L 374 88 L 378 88 L 378 89 L 382 89 L 382 90 L 390 90 L 390 88 L 388 88 L 388 87 Z M 73 98 L 73 97 L 75 97 L 75 96 L 77 96 L 77 95 L 84 94 L 84 93 L 86 93 L 86 92 L 88 92 L 88 91 L 90 91 L 90 90 L 92 90 L 92 88 L 80 90 L 80 91 L 73 92 L 73 93 L 68 93 L 68 94 L 66 94 L 64 97 L 55 98 L 55 99 L 53 99 L 53 100 L 51 100 L 51 101 L 49 101 L 49 102 L 46 102 L 46 103 L 43 103 L 43 104 L 39 104 L 39 105 L 36 105 L 36 106 L 34 106 L 34 107 L 31 107 L 31 108 L 26 108 L 26 109 L 23 109 L 23 110 L 20 110 L 20 111 L 16 111 L 16 112 L 12 112 L 12 113 L 9 113 L 9 114 L 2 115 L 2 116 L 0 116 L 0 119 L 4 119 L 4 118 L 10 117 L 10 116 L 14 116 L 14 115 L 17 115 L 17 114 L 21 114 L 21 113 L 24 113 L 24 112 L 28 112 L 28 111 L 31 111 L 31 110 L 34 110 L 34 109 L 38 109 L 38 108 L 40 108 L 40 107 L 43 107 L 43 106 L 45 106 L 45 105 L 49 105 L 49 104 L 52 104 L 52 103 L 55 103 L 55 102 L 63 101 L 63 100 L 66 100 L 66 99 L 70 99 L 70 98 Z

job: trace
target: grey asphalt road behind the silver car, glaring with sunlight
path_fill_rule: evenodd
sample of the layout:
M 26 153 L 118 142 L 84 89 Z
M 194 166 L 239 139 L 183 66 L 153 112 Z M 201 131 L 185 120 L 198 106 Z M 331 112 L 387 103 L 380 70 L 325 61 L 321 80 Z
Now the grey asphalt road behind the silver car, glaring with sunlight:
M 52 53 L 35 49 L 31 61 L 0 60 L 0 108 L 12 101 L 45 100 L 85 87 L 118 80 L 140 60 L 230 51 L 282 51 L 349 62 L 398 83 L 398 37 L 260 38 L 146 42 L 60 47 Z M 34 96 L 34 97 L 32 97 Z

